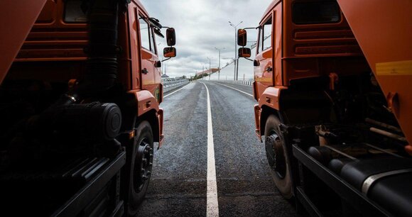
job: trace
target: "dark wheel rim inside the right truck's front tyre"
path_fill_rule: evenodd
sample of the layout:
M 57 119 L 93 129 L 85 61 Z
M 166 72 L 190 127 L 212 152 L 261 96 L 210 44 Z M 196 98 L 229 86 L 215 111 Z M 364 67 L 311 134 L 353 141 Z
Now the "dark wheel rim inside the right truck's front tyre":
M 269 166 L 281 179 L 286 176 L 286 158 L 282 143 L 283 141 L 276 132 L 272 132 L 271 135 L 265 138 L 266 157 Z

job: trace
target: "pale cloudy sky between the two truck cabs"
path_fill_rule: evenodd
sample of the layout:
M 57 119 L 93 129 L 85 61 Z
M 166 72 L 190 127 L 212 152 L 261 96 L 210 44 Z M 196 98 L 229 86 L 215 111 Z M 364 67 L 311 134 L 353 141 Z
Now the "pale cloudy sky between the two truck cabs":
M 259 1 L 259 3 L 258 3 Z M 271 0 L 141 0 L 149 15 L 158 18 L 163 26 L 175 28 L 177 57 L 163 62 L 169 77 L 190 77 L 202 68 L 221 67 L 234 58 L 235 30 L 229 26 L 242 23 L 238 28 L 256 27 Z M 166 33 L 166 29 L 162 30 Z M 248 30 L 248 41 L 256 41 L 256 30 Z M 157 37 L 158 50 L 163 50 L 166 40 Z M 250 48 L 251 43 L 248 43 Z M 238 47 L 239 48 L 239 47 Z M 252 57 L 256 50 L 252 50 Z M 162 54 L 163 55 L 163 52 Z M 232 64 L 233 65 L 233 64 Z M 222 69 L 227 79 L 233 79 L 234 67 Z M 231 69 L 230 69 L 231 68 Z M 163 69 L 164 70 L 164 69 Z M 226 72 L 226 71 L 228 72 Z M 225 73 L 223 73 L 225 71 Z M 229 73 L 229 71 L 231 73 Z M 253 78 L 253 62 L 239 60 L 239 79 Z

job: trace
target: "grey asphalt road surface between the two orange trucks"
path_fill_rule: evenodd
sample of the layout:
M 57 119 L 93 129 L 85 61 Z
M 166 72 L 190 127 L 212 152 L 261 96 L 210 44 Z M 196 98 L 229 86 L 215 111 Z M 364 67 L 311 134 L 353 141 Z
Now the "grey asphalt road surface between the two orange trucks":
M 204 83 L 204 84 L 202 84 Z M 165 140 L 139 216 L 207 216 L 207 89 L 219 216 L 296 216 L 274 187 L 264 144 L 254 133 L 250 86 L 193 82 L 165 94 Z M 210 139 L 211 140 L 211 139 Z M 209 182 L 210 183 L 210 182 Z M 208 202 L 209 200 L 209 202 Z

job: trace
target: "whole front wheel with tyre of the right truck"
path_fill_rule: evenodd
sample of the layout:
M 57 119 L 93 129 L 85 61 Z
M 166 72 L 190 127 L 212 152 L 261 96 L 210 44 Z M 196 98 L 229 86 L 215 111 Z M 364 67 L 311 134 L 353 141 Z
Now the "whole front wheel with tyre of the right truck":
M 291 199 L 293 196 L 291 174 L 289 172 L 291 164 L 289 162 L 286 143 L 279 128 L 280 124 L 281 121 L 274 115 L 269 116 L 266 120 L 266 157 L 269 162 L 269 167 L 271 167 L 271 174 L 276 187 L 284 198 Z

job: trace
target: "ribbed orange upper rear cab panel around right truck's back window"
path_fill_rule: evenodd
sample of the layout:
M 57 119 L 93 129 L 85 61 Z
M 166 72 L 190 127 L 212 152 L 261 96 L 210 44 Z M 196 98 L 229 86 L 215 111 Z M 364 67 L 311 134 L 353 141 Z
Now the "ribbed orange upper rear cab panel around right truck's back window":
M 296 0 L 283 1 L 283 58 L 348 57 L 362 52 L 345 16 L 337 23 L 293 23 Z

